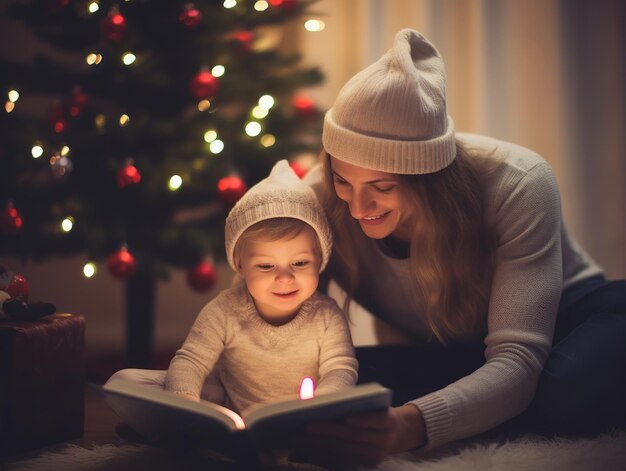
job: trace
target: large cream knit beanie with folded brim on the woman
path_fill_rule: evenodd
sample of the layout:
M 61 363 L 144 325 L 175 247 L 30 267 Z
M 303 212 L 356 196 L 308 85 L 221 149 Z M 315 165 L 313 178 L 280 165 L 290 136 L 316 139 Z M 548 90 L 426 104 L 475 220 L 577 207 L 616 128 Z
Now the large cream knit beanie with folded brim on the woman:
M 326 113 L 322 142 L 333 157 L 374 170 L 432 173 L 456 156 L 437 49 L 401 30 L 393 47 L 352 77 Z

